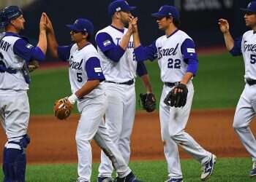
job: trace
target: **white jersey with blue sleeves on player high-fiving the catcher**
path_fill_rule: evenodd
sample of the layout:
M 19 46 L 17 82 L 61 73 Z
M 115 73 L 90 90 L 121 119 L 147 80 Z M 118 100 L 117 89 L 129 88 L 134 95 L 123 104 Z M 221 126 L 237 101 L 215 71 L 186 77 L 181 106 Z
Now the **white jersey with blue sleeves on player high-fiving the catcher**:
M 78 45 L 73 44 L 71 47 L 59 47 L 59 57 L 69 61 L 69 82 L 72 93 L 75 93 L 89 79 L 104 80 L 102 68 L 100 64 L 95 65 L 94 60 L 99 60 L 99 54 L 92 44 L 87 44 L 81 50 L 78 50 Z M 90 63 L 89 60 L 92 60 Z M 92 75 L 91 78 L 89 75 Z M 89 94 L 83 98 L 95 98 L 104 94 L 102 84 L 94 88 Z

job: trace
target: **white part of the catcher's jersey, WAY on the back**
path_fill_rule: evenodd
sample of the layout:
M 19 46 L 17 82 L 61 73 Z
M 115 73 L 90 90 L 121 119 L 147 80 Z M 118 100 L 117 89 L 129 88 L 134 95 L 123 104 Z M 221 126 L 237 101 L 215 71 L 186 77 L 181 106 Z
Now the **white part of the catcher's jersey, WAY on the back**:
M 29 84 L 25 82 L 22 68 L 26 62 L 23 58 L 15 55 L 13 46 L 16 41 L 21 39 L 18 36 L 4 36 L 0 41 L 0 60 L 7 68 L 17 70 L 16 74 L 0 72 L 0 89 L 1 90 L 28 90 Z

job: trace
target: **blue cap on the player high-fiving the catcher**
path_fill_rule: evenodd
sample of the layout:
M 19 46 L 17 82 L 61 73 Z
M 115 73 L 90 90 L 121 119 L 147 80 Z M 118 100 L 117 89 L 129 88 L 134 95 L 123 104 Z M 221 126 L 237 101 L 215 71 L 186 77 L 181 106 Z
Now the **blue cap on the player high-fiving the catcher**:
M 66 25 L 71 31 L 86 32 L 89 35 L 94 34 L 94 25 L 85 18 L 78 18 L 73 25 Z

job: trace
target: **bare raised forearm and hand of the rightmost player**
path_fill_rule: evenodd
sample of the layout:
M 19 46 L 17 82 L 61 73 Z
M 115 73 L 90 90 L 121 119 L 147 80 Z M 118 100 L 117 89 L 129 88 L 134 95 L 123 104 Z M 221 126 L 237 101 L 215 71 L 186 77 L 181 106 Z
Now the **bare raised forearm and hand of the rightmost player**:
M 224 39 L 225 39 L 225 44 L 227 47 L 227 50 L 230 51 L 234 47 L 234 39 L 230 34 L 230 25 L 227 20 L 225 19 L 219 19 L 219 29 L 222 31 Z

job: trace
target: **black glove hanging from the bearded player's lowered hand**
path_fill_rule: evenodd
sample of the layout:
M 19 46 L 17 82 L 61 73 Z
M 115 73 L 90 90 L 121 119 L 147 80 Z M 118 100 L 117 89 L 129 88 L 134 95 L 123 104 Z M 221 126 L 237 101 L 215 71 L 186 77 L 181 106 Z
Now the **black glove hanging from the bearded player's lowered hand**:
M 140 94 L 139 103 L 142 103 L 143 108 L 147 112 L 152 112 L 156 109 L 156 97 L 153 93 Z

